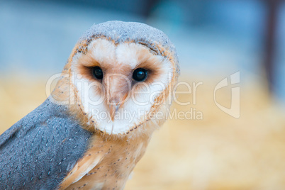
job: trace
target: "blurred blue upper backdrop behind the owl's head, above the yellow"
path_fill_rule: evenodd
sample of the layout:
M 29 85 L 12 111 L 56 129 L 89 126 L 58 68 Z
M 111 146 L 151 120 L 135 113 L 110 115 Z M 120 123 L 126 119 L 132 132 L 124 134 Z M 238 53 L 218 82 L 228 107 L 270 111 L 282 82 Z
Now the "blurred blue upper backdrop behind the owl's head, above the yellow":
M 269 1 L 270 2 L 270 1 Z M 264 83 L 268 1 L 0 1 L 0 69 L 61 72 L 84 30 L 110 20 L 163 30 L 177 46 L 181 68 L 195 75 L 232 74 Z M 285 101 L 285 4 L 277 5 L 272 89 Z M 184 69 L 182 69 L 184 71 Z M 2 72 L 3 73 L 3 72 Z M 45 74 L 43 74 L 45 73 Z

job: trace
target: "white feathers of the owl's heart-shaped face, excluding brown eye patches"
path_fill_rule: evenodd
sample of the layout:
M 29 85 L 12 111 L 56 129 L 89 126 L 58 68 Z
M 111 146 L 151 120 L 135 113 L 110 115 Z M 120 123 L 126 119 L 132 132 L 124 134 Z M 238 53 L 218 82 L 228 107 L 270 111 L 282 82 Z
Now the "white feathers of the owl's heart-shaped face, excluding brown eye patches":
M 88 50 L 96 62 L 99 62 L 101 67 L 118 67 L 118 74 L 120 74 L 121 65 L 129 65 L 130 68 L 135 69 L 140 67 L 141 60 L 139 60 L 138 52 L 145 50 L 147 47 L 135 43 L 122 43 L 114 45 L 108 40 L 94 40 L 89 46 Z M 77 88 L 77 94 L 84 106 L 84 112 L 94 119 L 96 128 L 106 131 L 109 134 L 122 134 L 140 124 L 140 121 L 146 117 L 146 113 L 154 104 L 155 97 L 164 91 L 172 79 L 172 67 L 169 60 L 160 55 L 152 55 L 157 57 L 160 62 L 160 75 L 156 77 L 154 82 L 148 84 L 141 91 L 136 92 L 135 96 L 129 96 L 123 106 L 116 111 L 115 119 L 112 121 L 109 114 L 109 107 L 106 104 L 106 97 L 102 97 L 93 87 L 98 84 L 83 77 L 77 77 L 80 73 L 79 62 L 80 57 L 86 56 L 78 53 L 72 60 L 72 73 L 74 74 L 74 86 Z M 132 73 L 130 73 L 132 74 Z M 152 77 L 152 76 L 149 76 Z M 110 88 L 118 85 L 116 82 L 111 84 Z M 135 98 L 134 98 L 135 97 Z M 93 123 L 90 123 L 93 124 Z

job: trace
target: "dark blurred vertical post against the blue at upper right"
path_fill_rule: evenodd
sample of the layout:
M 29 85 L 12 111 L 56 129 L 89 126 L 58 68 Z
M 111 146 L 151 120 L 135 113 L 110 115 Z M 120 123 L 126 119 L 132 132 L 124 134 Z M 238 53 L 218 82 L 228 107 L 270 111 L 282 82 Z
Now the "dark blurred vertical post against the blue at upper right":
M 264 69 L 266 72 L 269 91 L 274 90 L 274 57 L 276 55 L 276 23 L 279 11 L 279 0 L 266 0 L 267 23 L 265 25 Z

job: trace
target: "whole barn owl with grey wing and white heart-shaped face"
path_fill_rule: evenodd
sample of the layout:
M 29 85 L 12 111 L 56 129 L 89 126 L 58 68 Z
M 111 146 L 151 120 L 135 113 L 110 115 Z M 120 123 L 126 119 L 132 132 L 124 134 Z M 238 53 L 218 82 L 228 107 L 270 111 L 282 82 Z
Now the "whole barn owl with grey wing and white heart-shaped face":
M 0 189 L 123 189 L 179 76 L 174 45 L 143 23 L 79 38 L 50 96 L 0 138 Z

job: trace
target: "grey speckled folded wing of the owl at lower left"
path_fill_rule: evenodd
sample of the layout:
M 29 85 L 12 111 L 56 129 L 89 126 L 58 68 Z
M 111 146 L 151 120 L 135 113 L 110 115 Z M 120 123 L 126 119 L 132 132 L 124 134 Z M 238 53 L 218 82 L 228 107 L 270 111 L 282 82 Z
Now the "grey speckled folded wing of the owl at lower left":
M 0 135 L 0 189 L 57 189 L 91 135 L 47 99 Z

